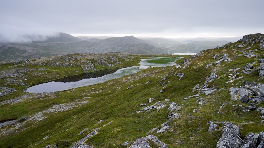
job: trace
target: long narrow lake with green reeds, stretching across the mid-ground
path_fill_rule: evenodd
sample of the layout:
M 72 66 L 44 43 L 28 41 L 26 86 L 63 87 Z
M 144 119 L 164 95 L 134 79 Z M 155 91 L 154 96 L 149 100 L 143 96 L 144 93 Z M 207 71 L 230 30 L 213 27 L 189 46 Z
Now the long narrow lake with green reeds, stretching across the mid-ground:
M 63 91 L 77 87 L 94 85 L 97 83 L 109 81 L 115 78 L 120 78 L 125 75 L 137 73 L 149 67 L 166 67 L 176 65 L 175 61 L 182 57 L 149 57 L 148 59 L 141 59 L 140 66 L 132 66 L 121 69 L 102 70 L 81 75 L 74 75 L 47 83 L 42 83 L 29 87 L 26 92 L 42 93 Z

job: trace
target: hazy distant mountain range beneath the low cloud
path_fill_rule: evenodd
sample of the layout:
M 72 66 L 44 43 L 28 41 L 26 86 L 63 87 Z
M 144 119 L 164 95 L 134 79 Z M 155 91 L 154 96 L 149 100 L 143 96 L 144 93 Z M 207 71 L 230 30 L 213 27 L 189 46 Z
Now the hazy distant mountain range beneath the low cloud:
M 178 52 L 200 52 L 215 48 L 229 41 L 195 41 L 186 43 L 168 38 L 136 38 L 134 36 L 74 37 L 66 33 L 55 36 L 26 36 L 32 43 L 0 43 L 0 60 L 39 58 L 69 53 L 121 52 L 131 54 L 171 54 Z M 41 40 L 36 40 L 41 39 Z M 1 41 L 0 41 L 1 42 Z

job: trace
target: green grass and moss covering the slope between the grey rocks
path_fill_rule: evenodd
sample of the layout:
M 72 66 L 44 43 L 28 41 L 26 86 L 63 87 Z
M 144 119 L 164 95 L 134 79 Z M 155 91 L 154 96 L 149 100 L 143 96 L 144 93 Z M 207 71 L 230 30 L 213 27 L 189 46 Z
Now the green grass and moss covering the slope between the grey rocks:
M 233 43 L 228 46 L 236 44 Z M 251 48 L 246 49 L 247 47 Z M 173 72 L 169 73 L 166 77 L 167 85 L 165 87 L 159 81 L 172 69 L 169 66 L 165 68 L 148 68 L 130 76 L 93 86 L 75 88 L 74 91 L 55 92 L 57 97 L 54 98 L 47 98 L 45 100 L 36 99 L 30 102 L 28 101 L 30 99 L 28 99 L 14 105 L 3 105 L 0 111 L 5 114 L 1 114 L 0 119 L 29 116 L 50 108 L 54 103 L 74 102 L 76 99 L 88 101 L 87 104 L 75 107 L 72 110 L 48 114 L 46 119 L 36 124 L 32 122 L 25 125 L 21 127 L 21 129 L 28 127 L 24 131 L 15 132 L 7 137 L 1 137 L 0 145 L 2 147 L 45 147 L 59 140 L 67 140 L 72 144 L 98 127 L 101 127 L 98 130 L 99 133 L 86 141 L 88 145 L 94 147 L 122 147 L 122 143 L 126 141 L 132 144 L 138 137 L 147 136 L 149 130 L 167 121 L 166 117 L 169 114 L 167 108 L 169 105 L 159 112 L 151 110 L 136 114 L 136 111 L 142 108 L 140 103 L 148 103 L 148 99 L 151 97 L 156 100 L 150 103 L 150 105 L 156 101 L 169 99 L 180 106 L 177 111 L 180 119 L 175 119 L 168 124 L 170 130 L 154 134 L 162 142 L 168 144 L 168 147 L 215 147 L 218 138 L 222 135 L 221 127 L 224 124 L 220 122 L 224 121 L 231 121 L 237 125 L 241 137 L 245 137 L 248 132 L 258 133 L 263 131 L 264 128 L 259 118 L 261 114 L 257 111 L 243 112 L 242 108 L 233 107 L 232 105 L 246 106 L 247 104 L 241 101 L 230 100 L 230 92 L 228 91 L 230 87 L 243 85 L 243 80 L 246 82 L 263 83 L 263 78 L 257 80 L 257 71 L 249 75 L 242 73 L 246 63 L 252 63 L 259 58 L 245 58 L 243 55 L 234 57 L 242 53 L 239 52 L 242 49 L 249 51 L 257 48 L 258 45 L 255 44 L 241 48 L 224 49 L 221 47 L 220 49 L 207 50 L 201 53 L 199 57 L 191 60 L 190 65 L 185 70 L 179 71 L 185 73 L 181 80 L 179 80 L 179 77 L 171 75 L 171 73 L 174 74 L 178 69 L 174 69 Z M 213 64 L 213 66 L 206 69 L 207 64 L 216 61 L 216 59 L 213 59 L 215 53 L 218 53 L 220 57 L 223 53 L 229 54 L 229 57 L 232 57 L 234 61 L 222 61 L 221 65 Z M 264 54 L 261 50 L 257 50 L 254 53 L 260 55 L 260 58 Z M 185 58 L 190 57 L 185 56 Z M 180 59 L 177 63 L 181 63 L 183 60 Z M 259 65 L 260 63 L 258 62 L 254 64 L 256 67 Z M 10 66 L 6 65 L 1 66 L 6 69 L 10 68 Z M 183 65 L 181 66 L 183 67 Z M 231 74 L 228 71 L 231 68 L 241 68 L 238 70 L 238 72 L 241 72 L 238 77 L 243 76 L 244 79 L 226 84 L 225 82 L 229 80 L 228 75 Z M 56 67 L 56 69 L 58 72 L 60 71 L 59 67 Z M 195 95 L 197 92 L 192 92 L 192 88 L 197 84 L 203 85 L 205 78 L 214 69 L 220 77 L 210 82 L 209 86 L 218 89 L 223 88 L 224 90 L 217 91 L 209 96 L 200 94 L 199 98 L 182 99 L 182 97 Z M 70 70 L 71 68 L 66 69 L 66 71 Z M 71 73 L 75 74 L 74 72 Z M 56 75 L 62 77 L 65 73 L 56 73 Z M 48 80 L 48 77 L 45 79 Z M 1 84 L 4 83 L 3 81 L 0 81 Z M 37 81 L 39 79 L 36 77 L 35 80 L 32 79 L 26 82 L 26 85 L 36 83 Z M 150 83 L 145 84 L 148 81 Z M 134 87 L 127 90 L 130 85 L 134 85 Z M 12 86 L 11 88 L 13 87 L 16 87 L 17 91 L 2 97 L 1 101 L 26 94 L 19 90 L 23 87 Z M 164 91 L 163 93 L 159 92 L 161 89 Z M 201 98 L 205 101 L 203 105 L 199 106 L 197 100 Z M 217 114 L 222 104 L 225 105 L 221 109 L 220 114 Z M 257 106 L 263 106 L 263 103 Z M 198 110 L 192 112 L 196 108 Z M 104 119 L 102 123 L 96 124 L 102 119 Z M 208 132 L 210 121 L 214 121 L 217 124 L 216 131 Z M 242 123 L 243 121 L 247 123 Z M 102 127 L 107 123 L 110 124 Z M 84 135 L 78 136 L 78 133 L 85 128 L 89 128 L 89 130 L 85 131 Z M 48 135 L 48 139 L 42 139 Z M 39 143 L 40 141 L 43 142 Z

